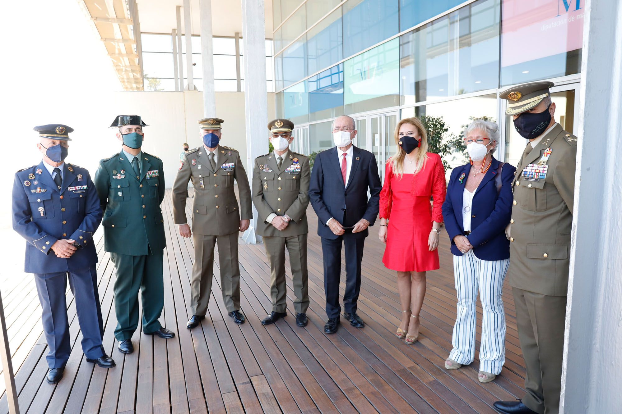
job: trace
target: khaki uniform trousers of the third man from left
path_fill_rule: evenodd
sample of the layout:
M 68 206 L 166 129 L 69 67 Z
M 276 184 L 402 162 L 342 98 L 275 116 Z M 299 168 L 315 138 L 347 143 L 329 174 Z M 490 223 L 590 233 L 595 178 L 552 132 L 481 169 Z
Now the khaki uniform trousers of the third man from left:
M 218 243 L 220 286 L 228 312 L 239 310 L 238 232 L 225 236 L 205 236 L 194 233 L 195 262 L 190 282 L 190 311 L 205 315 L 210 302 L 211 279 L 214 276 L 214 246 Z

